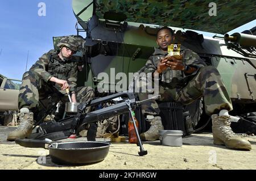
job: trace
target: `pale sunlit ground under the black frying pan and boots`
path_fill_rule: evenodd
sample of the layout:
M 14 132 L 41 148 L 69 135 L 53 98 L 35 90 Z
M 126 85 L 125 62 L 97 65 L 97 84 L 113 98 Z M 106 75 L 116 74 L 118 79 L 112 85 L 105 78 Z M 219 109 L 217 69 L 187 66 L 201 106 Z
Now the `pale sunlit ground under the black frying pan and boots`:
M 148 152 L 143 157 L 139 157 L 139 146 L 136 144 L 112 143 L 104 161 L 85 166 L 63 166 L 53 163 L 46 149 L 24 148 L 14 142 L 7 142 L 6 135 L 13 129 L 0 127 L 0 169 L 256 169 L 256 136 L 246 136 L 252 145 L 250 151 L 213 145 L 211 133 L 184 137 L 181 147 L 163 146 L 160 141 L 143 142 Z M 86 138 L 62 141 L 71 140 L 81 141 Z

